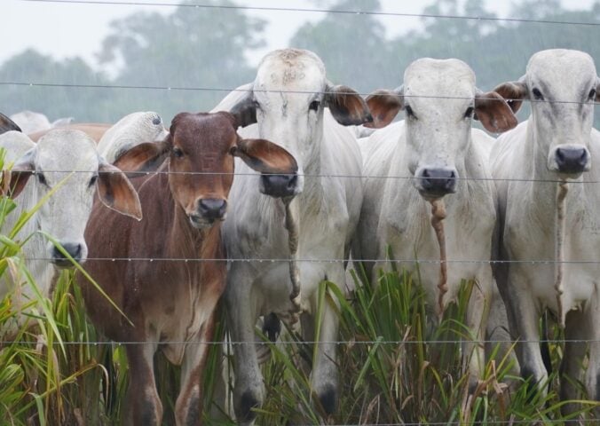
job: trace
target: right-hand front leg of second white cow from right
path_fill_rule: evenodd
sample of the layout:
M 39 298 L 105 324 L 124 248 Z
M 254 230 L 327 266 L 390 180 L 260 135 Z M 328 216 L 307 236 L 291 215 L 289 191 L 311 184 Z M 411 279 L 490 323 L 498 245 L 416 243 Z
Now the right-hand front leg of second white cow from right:
M 484 272 L 485 279 L 476 280 L 467 307 L 467 327 L 470 340 L 464 342 L 464 355 L 467 357 L 469 391 L 473 393 L 486 369 L 486 322 L 492 297 L 492 272 Z

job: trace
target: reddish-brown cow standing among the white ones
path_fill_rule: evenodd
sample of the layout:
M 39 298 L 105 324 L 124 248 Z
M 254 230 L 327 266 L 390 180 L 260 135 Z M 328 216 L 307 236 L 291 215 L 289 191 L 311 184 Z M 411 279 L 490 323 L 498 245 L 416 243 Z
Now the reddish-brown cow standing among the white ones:
M 80 278 L 87 310 L 109 338 L 140 343 L 127 345 L 130 388 L 123 424 L 162 422 L 153 374 L 159 346 L 170 362 L 182 365 L 177 424 L 201 422 L 206 342 L 212 340 L 215 308 L 225 288 L 220 222 L 233 182 L 233 156 L 262 173 L 297 171 L 294 158 L 280 146 L 242 139 L 235 130 L 238 123 L 229 113 L 178 114 L 163 142 L 136 146 L 119 158 L 116 164 L 123 170 L 147 170 L 167 159 L 159 173 L 131 179 L 142 221 L 123 220 L 99 202 L 94 205 L 85 234 L 93 241 L 87 270 L 127 319 Z M 107 263 L 94 258 L 155 260 Z

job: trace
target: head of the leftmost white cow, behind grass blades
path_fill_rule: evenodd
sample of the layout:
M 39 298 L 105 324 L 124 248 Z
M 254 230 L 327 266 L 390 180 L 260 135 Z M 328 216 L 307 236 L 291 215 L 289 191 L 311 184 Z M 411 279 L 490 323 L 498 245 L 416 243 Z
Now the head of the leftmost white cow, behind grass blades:
M 38 229 L 59 241 L 78 262 L 85 261 L 88 254 L 83 232 L 97 189 L 107 207 L 141 219 L 138 193 L 130 181 L 100 157 L 94 140 L 79 130 L 51 130 L 16 160 L 11 170 L 11 196 L 18 197 L 26 185 L 24 196 L 31 197 L 30 206 L 52 191 L 36 212 Z M 54 264 L 70 265 L 51 242 L 46 249 Z

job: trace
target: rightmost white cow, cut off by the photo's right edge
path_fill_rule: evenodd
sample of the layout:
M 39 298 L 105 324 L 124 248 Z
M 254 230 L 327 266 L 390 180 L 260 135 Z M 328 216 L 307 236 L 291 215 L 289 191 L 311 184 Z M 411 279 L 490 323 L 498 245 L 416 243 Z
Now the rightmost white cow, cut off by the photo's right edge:
M 502 135 L 491 157 L 493 177 L 500 179 L 501 259 L 517 261 L 499 269 L 498 286 L 519 340 L 521 375 L 535 383 L 548 377 L 538 341 L 539 319 L 549 309 L 565 327 L 567 340 L 592 340 L 584 383 L 588 397 L 598 400 L 600 191 L 592 183 L 600 180 L 600 135 L 592 129 L 594 102 L 600 100 L 596 67 L 581 51 L 540 51 L 519 81 L 496 91 L 516 99 L 515 110 L 523 99 L 532 100 L 529 120 Z M 549 264 L 530 262 L 538 260 Z M 570 379 L 562 380 L 562 398 L 577 397 L 572 380 L 580 377 L 585 353 L 585 344 L 565 343 L 561 373 Z

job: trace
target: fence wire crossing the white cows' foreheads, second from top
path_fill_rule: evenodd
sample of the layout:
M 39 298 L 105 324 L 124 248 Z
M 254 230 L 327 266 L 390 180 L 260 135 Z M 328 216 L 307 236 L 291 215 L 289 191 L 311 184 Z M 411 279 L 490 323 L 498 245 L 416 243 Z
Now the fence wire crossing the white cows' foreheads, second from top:
M 78 89 L 135 89 L 135 90 L 150 90 L 150 91 L 242 91 L 242 92 L 260 92 L 260 93 L 288 93 L 298 95 L 359 95 L 369 96 L 374 93 L 358 93 L 356 91 L 275 91 L 267 89 L 241 89 L 241 88 L 218 88 L 218 87 L 184 87 L 184 86 L 134 86 L 128 84 L 79 84 L 79 83 L 35 83 L 35 82 L 4 82 L 0 81 L 2 86 L 28 86 L 28 87 L 51 87 L 51 88 L 78 88 Z M 394 95 L 391 95 L 394 96 Z M 473 97 L 466 96 L 442 96 L 442 95 L 396 95 L 399 98 L 410 98 L 410 99 L 449 99 L 449 100 L 472 100 Z M 486 98 L 481 97 L 479 99 L 486 100 L 498 100 L 497 98 Z M 522 102 L 525 99 L 504 99 L 507 102 Z M 551 103 L 551 104 L 597 104 L 598 102 L 591 102 L 589 100 L 560 100 L 560 99 L 526 99 L 532 103 Z

